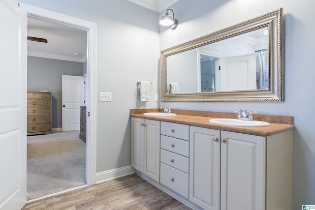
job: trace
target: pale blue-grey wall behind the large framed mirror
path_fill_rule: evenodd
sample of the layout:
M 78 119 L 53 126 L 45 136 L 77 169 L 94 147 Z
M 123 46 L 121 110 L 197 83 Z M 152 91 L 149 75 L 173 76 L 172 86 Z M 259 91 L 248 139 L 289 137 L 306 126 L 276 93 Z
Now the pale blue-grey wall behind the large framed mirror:
M 292 210 L 315 205 L 314 126 L 314 0 L 180 0 L 171 8 L 179 25 L 160 27 L 160 50 L 207 33 L 284 8 L 284 102 L 164 102 L 176 109 L 257 110 L 260 114 L 294 117 L 292 151 Z M 160 12 L 159 16 L 165 14 Z

